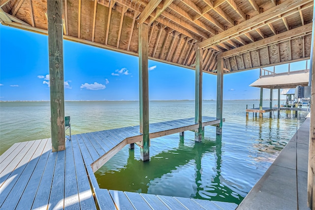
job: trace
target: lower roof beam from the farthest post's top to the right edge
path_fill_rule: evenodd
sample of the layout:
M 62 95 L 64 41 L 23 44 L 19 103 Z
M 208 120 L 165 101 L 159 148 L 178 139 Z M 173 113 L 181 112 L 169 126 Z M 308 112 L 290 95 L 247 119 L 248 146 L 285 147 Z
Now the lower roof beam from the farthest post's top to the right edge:
M 231 56 L 234 56 L 237 54 L 252 51 L 254 49 L 257 49 L 257 47 L 259 47 L 259 46 L 265 47 L 268 44 L 280 42 L 280 41 L 283 41 L 283 40 L 291 38 L 291 37 L 296 37 L 296 36 L 303 35 L 303 34 L 308 33 L 308 32 L 312 32 L 312 25 L 313 25 L 312 23 L 309 23 L 307 25 L 300 26 L 300 27 L 292 29 L 290 31 L 286 31 L 284 33 L 277 34 L 277 35 L 273 35 L 273 36 L 267 37 L 265 39 L 261 39 L 259 41 L 256 41 L 254 43 L 250 43 L 250 44 L 247 44 L 247 45 L 223 52 L 223 53 L 221 53 L 221 57 L 222 58 L 231 57 Z

